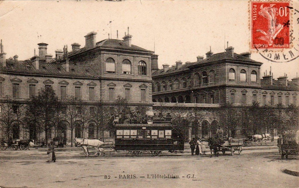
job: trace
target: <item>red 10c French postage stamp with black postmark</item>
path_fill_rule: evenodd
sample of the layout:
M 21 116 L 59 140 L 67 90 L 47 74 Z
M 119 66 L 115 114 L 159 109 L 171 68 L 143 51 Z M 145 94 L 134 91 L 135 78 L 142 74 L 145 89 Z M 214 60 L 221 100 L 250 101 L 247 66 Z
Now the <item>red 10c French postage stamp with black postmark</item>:
M 251 49 L 290 48 L 290 2 L 251 2 Z

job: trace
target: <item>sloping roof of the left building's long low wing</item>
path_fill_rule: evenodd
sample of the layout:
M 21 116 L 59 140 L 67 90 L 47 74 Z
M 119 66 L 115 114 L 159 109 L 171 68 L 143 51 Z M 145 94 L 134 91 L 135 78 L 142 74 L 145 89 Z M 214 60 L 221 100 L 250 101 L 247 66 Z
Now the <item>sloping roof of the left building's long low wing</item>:
M 30 67 L 30 68 L 28 68 Z M 58 68 L 58 69 L 57 69 Z M 89 72 L 85 70 L 88 69 Z M 6 67 L 0 65 L 0 71 L 17 71 L 18 73 L 40 73 L 40 74 L 55 74 L 55 75 L 77 75 L 77 76 L 97 76 L 98 74 L 89 66 L 69 65 L 69 72 L 58 63 L 41 63 L 39 62 L 39 69 L 36 70 L 31 62 L 16 61 L 7 59 Z M 72 71 L 74 70 L 74 71 Z

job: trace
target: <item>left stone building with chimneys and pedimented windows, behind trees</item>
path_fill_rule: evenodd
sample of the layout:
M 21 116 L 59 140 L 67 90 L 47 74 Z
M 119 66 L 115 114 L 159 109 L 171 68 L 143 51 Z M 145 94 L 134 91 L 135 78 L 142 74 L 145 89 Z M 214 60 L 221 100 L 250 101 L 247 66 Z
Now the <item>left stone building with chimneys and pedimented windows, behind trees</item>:
M 80 48 L 80 44 L 73 43 L 71 51 L 68 51 L 66 45 L 63 50 L 55 51 L 55 57 L 47 53 L 48 44 L 40 43 L 39 55 L 34 54 L 22 61 L 17 55 L 7 58 L 1 42 L 1 103 L 18 101 L 26 104 L 40 88 L 51 86 L 62 101 L 73 95 L 90 107 L 98 103 L 113 107 L 115 100 L 122 97 L 131 110 L 140 105 L 152 109 L 151 61 L 154 52 L 131 44 L 129 32 L 123 40 L 105 39 L 99 42 L 96 34 L 91 32 L 85 36 L 85 47 Z M 68 122 L 62 124 L 62 132 L 69 143 L 70 130 L 65 128 Z M 50 138 L 56 137 L 55 134 L 52 130 Z M 0 135 L 3 136 L 3 132 Z M 26 139 L 28 133 L 18 127 L 12 136 Z M 75 136 L 83 137 L 76 130 Z M 84 137 L 95 136 L 86 132 Z

